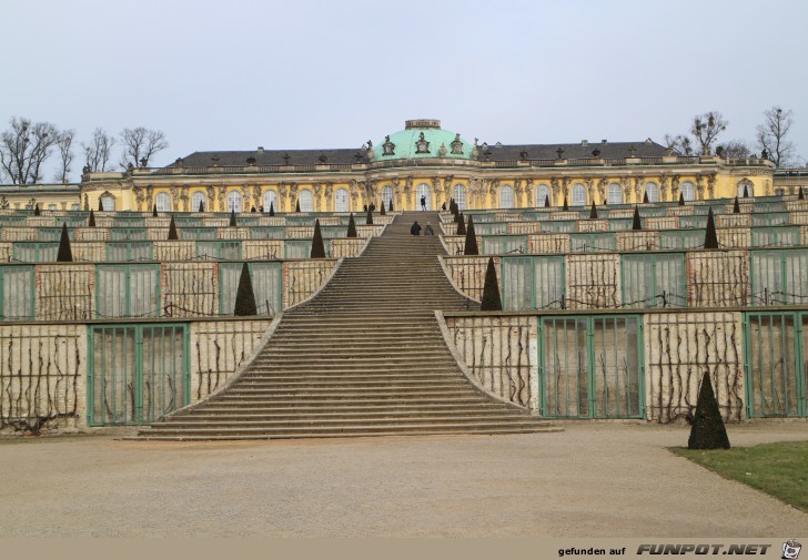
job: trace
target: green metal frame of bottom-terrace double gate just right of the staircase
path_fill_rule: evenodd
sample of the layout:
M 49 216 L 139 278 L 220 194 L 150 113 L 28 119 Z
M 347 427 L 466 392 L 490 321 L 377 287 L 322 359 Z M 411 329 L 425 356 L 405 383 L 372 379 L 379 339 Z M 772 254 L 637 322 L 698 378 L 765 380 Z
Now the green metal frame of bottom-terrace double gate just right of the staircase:
M 597 378 L 596 378 L 596 360 L 595 360 L 595 322 L 603 319 L 616 320 L 618 318 L 629 319 L 633 318 L 637 322 L 637 414 L 636 415 L 617 415 L 617 416 L 598 416 L 597 415 Z M 545 348 L 545 322 L 546 320 L 564 320 L 564 322 L 578 322 L 584 320 L 586 325 L 586 356 L 587 356 L 587 403 L 588 414 L 586 415 L 552 415 L 547 413 L 547 395 L 545 391 L 545 377 L 547 371 L 545 370 L 545 357 L 547 348 Z M 626 315 L 563 315 L 563 316 L 538 316 L 537 317 L 537 332 L 538 332 L 538 396 L 539 396 L 539 411 L 543 417 L 547 418 L 645 418 L 646 415 L 646 403 L 645 403 L 645 330 L 642 315 L 626 314 Z M 566 340 L 565 340 L 566 343 Z M 572 344 L 576 344 L 573 340 Z M 566 344 L 569 347 L 568 344 Z M 616 349 L 615 349 L 616 352 Z M 580 391 L 580 387 L 578 387 Z M 567 395 L 568 401 L 568 395 Z

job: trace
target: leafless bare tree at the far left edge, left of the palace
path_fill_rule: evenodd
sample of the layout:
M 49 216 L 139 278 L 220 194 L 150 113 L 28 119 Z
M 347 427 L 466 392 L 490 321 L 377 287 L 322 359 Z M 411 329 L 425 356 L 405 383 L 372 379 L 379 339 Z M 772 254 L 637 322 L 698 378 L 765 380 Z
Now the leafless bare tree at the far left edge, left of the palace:
M 59 130 L 49 122 L 17 116 L 9 124 L 0 134 L 0 169 L 16 185 L 37 184 L 42 181 L 42 164 L 59 142 Z

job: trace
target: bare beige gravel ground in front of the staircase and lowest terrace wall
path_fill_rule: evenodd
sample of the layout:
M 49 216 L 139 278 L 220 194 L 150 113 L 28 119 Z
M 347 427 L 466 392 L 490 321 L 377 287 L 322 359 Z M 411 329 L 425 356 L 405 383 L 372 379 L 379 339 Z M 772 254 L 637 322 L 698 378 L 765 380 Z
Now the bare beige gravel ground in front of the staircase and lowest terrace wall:
M 808 422 L 728 427 L 734 446 Z M 527 436 L 0 441 L 0 537 L 750 537 L 808 515 L 666 447 L 685 426 Z

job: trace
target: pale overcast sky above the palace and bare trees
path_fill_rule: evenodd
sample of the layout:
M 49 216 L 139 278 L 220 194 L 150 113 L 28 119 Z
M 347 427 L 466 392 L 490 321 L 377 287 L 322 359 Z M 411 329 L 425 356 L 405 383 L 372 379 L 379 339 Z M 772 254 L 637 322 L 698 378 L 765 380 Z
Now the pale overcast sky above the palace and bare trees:
M 0 130 L 159 129 L 155 164 L 353 149 L 418 118 L 481 143 L 661 143 L 720 111 L 719 141 L 753 143 L 775 104 L 808 157 L 805 0 L 0 0 Z

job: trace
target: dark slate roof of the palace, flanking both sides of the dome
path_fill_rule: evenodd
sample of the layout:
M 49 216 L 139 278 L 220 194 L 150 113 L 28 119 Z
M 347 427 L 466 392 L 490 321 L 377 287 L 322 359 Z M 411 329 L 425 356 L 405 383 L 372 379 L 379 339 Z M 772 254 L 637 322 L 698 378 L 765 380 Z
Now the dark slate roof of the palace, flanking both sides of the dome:
M 558 149 L 563 149 L 564 159 L 595 157 L 594 150 L 599 150 L 599 157 L 628 157 L 629 149 L 636 149 L 637 157 L 660 157 L 665 155 L 665 146 L 653 141 L 639 142 L 589 142 L 587 145 L 576 144 L 503 144 L 489 145 L 487 150 L 479 145 L 479 160 L 486 159 L 486 151 L 491 152 L 492 161 L 522 160 L 522 153 L 527 152 L 527 160 L 555 160 Z M 356 159 L 360 154 L 361 159 Z M 248 159 L 254 157 L 255 165 L 284 165 L 284 155 L 289 155 L 290 165 L 315 165 L 320 163 L 367 163 L 367 157 L 360 149 L 336 150 L 263 150 L 245 152 L 194 152 L 182 159 L 185 167 L 242 166 L 248 165 Z M 325 157 L 325 161 L 321 159 Z M 176 163 L 169 165 L 176 166 Z

